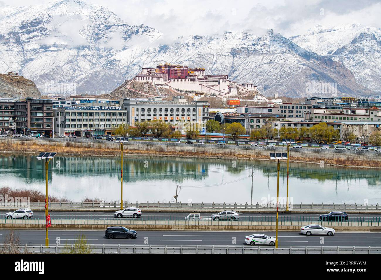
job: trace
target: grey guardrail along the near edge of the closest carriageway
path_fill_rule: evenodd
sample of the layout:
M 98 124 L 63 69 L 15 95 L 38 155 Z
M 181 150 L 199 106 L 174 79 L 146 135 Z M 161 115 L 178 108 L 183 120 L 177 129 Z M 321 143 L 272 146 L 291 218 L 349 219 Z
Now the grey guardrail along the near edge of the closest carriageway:
M 0 248 L 6 249 L 4 244 Z M 25 244 L 13 246 L 21 253 L 62 254 L 74 245 Z M 381 254 L 381 247 L 217 246 L 217 245 L 89 245 L 94 254 Z

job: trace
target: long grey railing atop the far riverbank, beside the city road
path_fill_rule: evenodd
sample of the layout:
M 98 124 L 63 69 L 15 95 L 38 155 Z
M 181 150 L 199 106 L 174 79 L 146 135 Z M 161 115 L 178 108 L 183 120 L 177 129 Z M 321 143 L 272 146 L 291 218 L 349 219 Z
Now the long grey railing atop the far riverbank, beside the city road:
M 77 138 L 29 138 L 29 137 L 0 137 L 0 140 L 16 140 L 16 141 L 53 141 L 53 142 L 74 142 L 74 143 L 90 143 L 90 144 L 115 144 L 118 145 L 119 143 L 115 141 L 107 141 L 107 140 L 101 140 L 101 139 L 77 139 Z M 256 141 L 250 141 L 253 143 L 256 143 Z M 245 149 L 245 150 L 287 150 L 287 146 L 275 146 L 275 147 L 251 147 L 248 144 L 240 144 L 240 146 L 236 146 L 235 144 L 224 144 L 224 145 L 217 145 L 217 144 L 205 144 L 201 146 L 197 146 L 196 144 L 174 144 L 173 142 L 169 141 L 145 141 L 145 140 L 130 140 L 126 144 L 131 145 L 139 145 L 139 144 L 147 144 L 152 146 L 185 146 L 185 147 L 213 147 L 216 149 Z M 271 144 L 271 142 L 270 142 Z M 351 146 L 351 147 L 360 147 L 360 146 Z M 290 149 L 291 151 L 295 152 L 316 152 L 316 153 L 327 153 L 327 150 L 322 150 L 319 147 L 303 147 L 301 149 Z M 334 150 L 329 149 L 330 153 L 334 154 L 354 154 L 354 155 L 381 155 L 381 152 L 375 152 L 374 150 L 369 151 L 360 151 L 360 150 Z

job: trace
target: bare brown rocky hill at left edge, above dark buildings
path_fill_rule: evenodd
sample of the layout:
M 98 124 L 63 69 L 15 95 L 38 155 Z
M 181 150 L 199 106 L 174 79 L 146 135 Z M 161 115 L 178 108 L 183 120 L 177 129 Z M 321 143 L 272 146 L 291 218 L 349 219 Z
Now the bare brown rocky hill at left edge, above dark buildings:
M 41 93 L 31 80 L 17 74 L 0 74 L 0 98 L 41 98 Z

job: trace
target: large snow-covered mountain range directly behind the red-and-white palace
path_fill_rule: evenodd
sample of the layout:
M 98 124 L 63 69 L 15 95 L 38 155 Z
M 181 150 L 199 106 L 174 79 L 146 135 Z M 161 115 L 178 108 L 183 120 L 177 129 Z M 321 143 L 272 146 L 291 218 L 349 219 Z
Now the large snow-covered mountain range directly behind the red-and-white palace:
M 341 62 L 272 30 L 263 36 L 225 32 L 168 42 L 152 27 L 131 26 L 104 7 L 75 0 L 5 6 L 0 16 L 0 72 L 18 71 L 40 89 L 52 82 L 76 82 L 77 92 L 114 90 L 142 66 L 171 62 L 255 83 L 267 96 L 373 94 Z M 312 81 L 337 83 L 338 92 L 307 93 L 306 83 Z

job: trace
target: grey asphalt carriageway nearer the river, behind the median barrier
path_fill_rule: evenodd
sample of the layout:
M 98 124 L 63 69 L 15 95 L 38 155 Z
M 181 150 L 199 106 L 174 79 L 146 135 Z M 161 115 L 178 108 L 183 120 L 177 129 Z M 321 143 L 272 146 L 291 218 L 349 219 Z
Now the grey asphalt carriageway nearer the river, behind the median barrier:
M 0 211 L 0 217 L 5 218 L 5 213 L 8 211 Z M 184 220 L 189 213 L 148 213 L 144 212 L 140 218 L 141 220 Z M 197 210 L 195 210 L 197 212 Z M 205 219 L 210 218 L 210 213 L 201 213 L 201 216 Z M 240 211 L 238 211 L 240 213 Z M 323 214 L 322 212 L 321 214 Z M 114 219 L 114 212 L 61 212 L 61 211 L 49 211 L 52 219 Z M 310 219 L 318 219 L 319 214 L 295 214 L 295 213 L 280 213 L 280 221 L 308 221 Z M 45 211 L 34 211 L 34 219 L 45 219 Z M 115 218 L 117 219 L 117 218 Z M 123 218 L 133 219 L 133 218 Z M 240 221 L 275 221 L 275 213 L 240 213 Z M 349 221 L 381 221 L 380 214 L 350 214 Z

